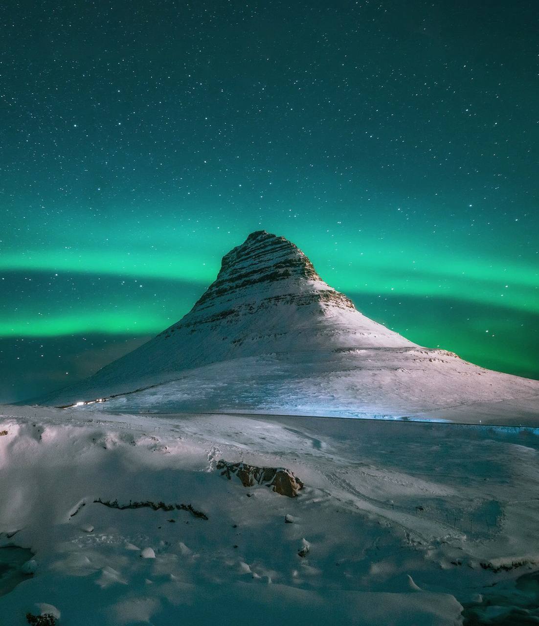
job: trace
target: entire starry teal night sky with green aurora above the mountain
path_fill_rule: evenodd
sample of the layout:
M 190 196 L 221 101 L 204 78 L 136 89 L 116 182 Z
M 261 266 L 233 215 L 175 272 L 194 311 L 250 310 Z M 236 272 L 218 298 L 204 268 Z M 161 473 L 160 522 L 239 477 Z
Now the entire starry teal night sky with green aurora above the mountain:
M 177 321 L 253 230 L 539 378 L 536 0 L 6 3 L 0 401 Z

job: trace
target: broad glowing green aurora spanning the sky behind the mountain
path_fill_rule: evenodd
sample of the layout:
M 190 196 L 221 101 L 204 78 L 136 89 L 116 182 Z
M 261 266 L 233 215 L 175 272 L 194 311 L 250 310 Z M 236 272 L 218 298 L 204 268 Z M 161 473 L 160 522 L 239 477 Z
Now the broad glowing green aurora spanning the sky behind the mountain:
M 172 232 L 168 239 L 163 232 L 150 233 L 151 241 L 159 242 L 156 245 L 136 238 L 133 241 L 132 232 L 130 228 L 124 233 L 116 230 L 114 245 L 98 246 L 89 239 L 83 246 L 4 254 L 1 272 L 26 277 L 68 276 L 82 285 L 88 280 L 93 284 L 103 280 L 128 284 L 131 292 L 139 291 L 133 301 L 132 297 L 126 301 L 121 289 L 108 287 L 101 297 L 100 289 L 94 287 L 83 296 L 78 289 L 78 296 L 68 305 L 64 298 L 55 297 L 26 302 L 21 312 L 0 319 L 0 336 L 157 334 L 190 309 L 215 279 L 222 255 L 248 233 L 239 228 L 235 232 L 216 229 L 182 238 L 181 233 Z M 498 342 L 489 343 L 483 337 L 496 339 L 501 334 L 505 342 L 511 334 L 526 332 L 526 325 L 515 328 L 515 319 L 525 316 L 528 320 L 539 313 L 538 272 L 533 265 L 503 263 L 486 255 L 471 257 L 469 252 L 449 254 L 444 248 L 436 250 L 428 239 L 423 246 L 414 242 L 403 247 L 398 235 L 382 245 L 361 237 L 361 233 L 357 239 L 342 232 L 324 239 L 317 229 L 299 229 L 297 225 L 276 224 L 273 232 L 283 233 L 299 245 L 322 279 L 350 295 L 364 314 L 409 339 L 451 349 L 478 364 L 505 371 L 535 371 L 531 352 L 501 352 Z M 148 235 L 147 229 L 145 233 Z M 322 245 L 321 239 L 325 242 Z M 82 289 L 84 293 L 86 287 Z M 166 308 L 159 304 L 163 292 L 169 294 Z M 467 316 L 466 307 L 470 309 Z M 456 315 L 452 313 L 455 308 L 459 311 Z M 432 310 L 424 318 L 421 311 L 426 309 Z

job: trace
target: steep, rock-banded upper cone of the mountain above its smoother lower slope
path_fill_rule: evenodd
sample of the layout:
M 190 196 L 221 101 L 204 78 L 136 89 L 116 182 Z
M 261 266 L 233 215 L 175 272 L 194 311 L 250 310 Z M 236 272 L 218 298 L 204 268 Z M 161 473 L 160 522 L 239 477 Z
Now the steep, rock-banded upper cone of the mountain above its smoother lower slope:
M 257 230 L 225 254 L 217 278 L 180 321 L 88 384 L 106 395 L 120 383 L 136 388 L 231 359 L 409 346 L 327 285 L 297 245 Z

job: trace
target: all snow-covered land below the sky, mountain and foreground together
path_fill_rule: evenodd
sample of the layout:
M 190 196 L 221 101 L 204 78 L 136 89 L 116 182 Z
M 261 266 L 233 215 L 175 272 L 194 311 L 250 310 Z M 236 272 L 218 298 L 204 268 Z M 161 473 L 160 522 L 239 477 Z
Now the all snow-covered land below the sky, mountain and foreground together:
M 533 621 L 539 428 L 313 416 L 537 426 L 538 398 L 252 233 L 180 322 L 43 401 L 80 406 L 1 408 L 1 622 Z

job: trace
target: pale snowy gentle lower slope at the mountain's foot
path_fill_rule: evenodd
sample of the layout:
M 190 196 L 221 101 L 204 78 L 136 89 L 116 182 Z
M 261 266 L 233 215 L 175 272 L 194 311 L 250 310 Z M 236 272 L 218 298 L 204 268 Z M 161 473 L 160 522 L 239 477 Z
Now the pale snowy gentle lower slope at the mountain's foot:
M 128 386 L 98 390 L 86 387 L 90 382 L 59 391 L 54 404 L 105 398 L 107 411 L 136 413 L 240 411 L 539 426 L 539 381 L 423 348 L 243 357 L 177 372 L 160 384 L 139 380 L 128 393 Z

